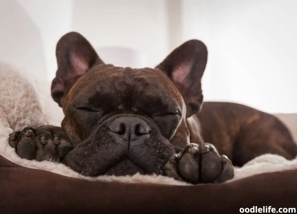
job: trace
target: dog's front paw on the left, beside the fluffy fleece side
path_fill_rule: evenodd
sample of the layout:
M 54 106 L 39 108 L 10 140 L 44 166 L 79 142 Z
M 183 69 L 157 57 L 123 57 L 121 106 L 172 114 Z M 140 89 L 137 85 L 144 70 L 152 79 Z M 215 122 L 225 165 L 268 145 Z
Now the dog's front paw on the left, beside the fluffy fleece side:
M 60 162 L 73 149 L 64 131 L 50 125 L 11 133 L 9 144 L 21 158 L 36 161 Z

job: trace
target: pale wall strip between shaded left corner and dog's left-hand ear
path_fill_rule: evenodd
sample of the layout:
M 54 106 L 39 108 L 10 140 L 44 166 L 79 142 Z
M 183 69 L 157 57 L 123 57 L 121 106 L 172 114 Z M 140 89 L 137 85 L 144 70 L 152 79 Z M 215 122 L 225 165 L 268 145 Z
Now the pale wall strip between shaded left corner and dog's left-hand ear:
M 71 31 L 72 0 L 17 0 L 17 2 L 39 29 L 43 48 L 41 55 L 45 59 L 47 73 L 45 78 L 52 80 L 57 70 L 56 43 L 65 32 Z M 26 32 L 31 33 L 29 29 L 26 29 Z M 34 40 L 29 41 L 29 45 L 34 46 L 34 44 Z

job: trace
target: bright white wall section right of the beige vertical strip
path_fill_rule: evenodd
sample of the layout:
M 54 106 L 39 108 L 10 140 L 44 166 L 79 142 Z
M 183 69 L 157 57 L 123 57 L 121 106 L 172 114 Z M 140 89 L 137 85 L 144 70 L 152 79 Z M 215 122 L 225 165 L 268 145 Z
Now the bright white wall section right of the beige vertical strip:
M 183 40 L 209 46 L 208 100 L 297 112 L 297 1 L 183 1 Z

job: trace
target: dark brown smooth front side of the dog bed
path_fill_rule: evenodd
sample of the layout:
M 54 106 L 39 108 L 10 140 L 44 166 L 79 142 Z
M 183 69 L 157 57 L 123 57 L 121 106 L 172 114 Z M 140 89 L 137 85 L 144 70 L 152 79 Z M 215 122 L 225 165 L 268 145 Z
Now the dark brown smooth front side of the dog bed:
M 295 208 L 296 182 L 297 170 L 198 186 L 92 182 L 25 168 L 0 157 L 1 213 L 239 213 L 240 208 L 255 206 Z

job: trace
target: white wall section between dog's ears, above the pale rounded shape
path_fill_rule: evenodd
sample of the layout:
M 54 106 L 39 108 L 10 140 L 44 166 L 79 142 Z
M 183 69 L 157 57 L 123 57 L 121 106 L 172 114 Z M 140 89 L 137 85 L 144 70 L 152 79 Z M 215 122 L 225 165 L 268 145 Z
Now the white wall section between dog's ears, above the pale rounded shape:
M 120 46 L 143 52 L 146 66 L 157 65 L 168 54 L 165 0 L 74 0 L 72 29 L 95 47 Z

